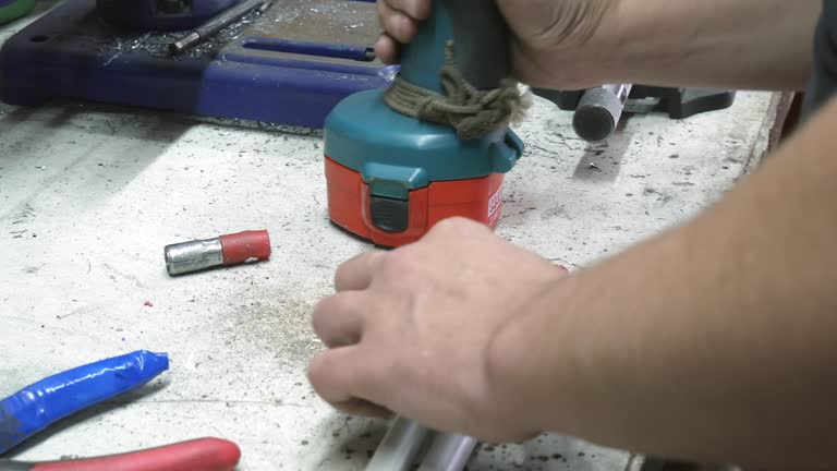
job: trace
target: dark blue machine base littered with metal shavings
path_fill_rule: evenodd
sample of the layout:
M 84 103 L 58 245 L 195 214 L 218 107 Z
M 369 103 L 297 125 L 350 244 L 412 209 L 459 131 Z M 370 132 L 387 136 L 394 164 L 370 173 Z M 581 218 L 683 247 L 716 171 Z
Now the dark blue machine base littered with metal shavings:
M 66 0 L 0 49 L 0 100 L 71 98 L 218 118 L 322 128 L 342 98 L 388 86 L 397 68 L 369 59 L 374 0 L 276 0 L 182 56 L 180 33 L 131 33 Z

